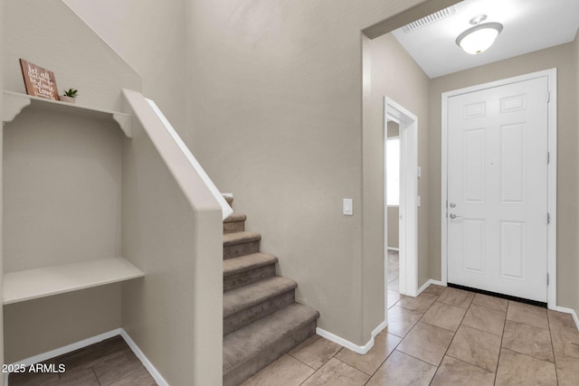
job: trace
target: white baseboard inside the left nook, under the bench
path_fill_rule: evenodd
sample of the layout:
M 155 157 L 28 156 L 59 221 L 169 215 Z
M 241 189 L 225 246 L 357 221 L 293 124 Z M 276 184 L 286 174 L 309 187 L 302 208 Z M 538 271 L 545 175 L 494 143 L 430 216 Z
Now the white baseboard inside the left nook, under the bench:
M 125 340 L 125 342 L 127 342 L 128 347 L 130 347 L 133 353 L 135 353 L 138 359 L 143 363 L 143 366 L 145 366 L 147 371 L 151 374 L 151 376 L 159 386 L 169 386 L 167 381 L 165 381 L 165 379 L 161 376 L 161 374 L 157 372 L 157 369 L 155 368 L 155 366 L 153 366 L 153 363 L 149 362 L 145 354 L 138 348 L 137 344 L 135 344 L 135 342 L 130 338 L 130 336 L 128 336 L 127 332 L 123 328 L 116 328 L 107 333 L 91 336 L 90 338 L 83 339 L 79 342 L 67 344 L 65 346 L 48 351 L 46 353 L 39 353 L 38 355 L 33 355 L 31 357 L 24 358 L 23 360 L 16 361 L 12 364 L 24 364 L 25 366 L 30 366 L 31 364 L 43 362 L 56 356 L 63 355 L 65 353 L 71 353 L 75 350 L 79 350 L 81 348 L 90 346 L 90 344 L 98 344 L 99 342 L 102 342 L 105 339 L 109 339 L 117 335 L 120 335 Z M 8 373 L 4 374 L 4 382 L 5 386 L 8 386 Z

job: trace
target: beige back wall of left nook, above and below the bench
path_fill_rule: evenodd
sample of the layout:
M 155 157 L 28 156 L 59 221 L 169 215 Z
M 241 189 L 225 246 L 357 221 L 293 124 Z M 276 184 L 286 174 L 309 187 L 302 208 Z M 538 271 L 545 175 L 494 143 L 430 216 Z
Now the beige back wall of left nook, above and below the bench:
M 112 119 L 34 107 L 5 124 L 5 272 L 120 256 L 122 137 Z M 6 361 L 119 328 L 120 296 L 106 286 L 5 306 Z

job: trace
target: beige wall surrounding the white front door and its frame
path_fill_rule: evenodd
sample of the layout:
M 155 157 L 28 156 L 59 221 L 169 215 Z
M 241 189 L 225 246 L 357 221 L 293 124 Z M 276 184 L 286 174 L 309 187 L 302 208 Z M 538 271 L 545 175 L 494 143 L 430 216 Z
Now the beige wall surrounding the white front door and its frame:
M 513 77 L 533 71 L 557 69 L 557 305 L 574 306 L 576 276 L 576 174 L 577 90 L 574 43 L 521 55 L 506 61 L 432 80 L 430 149 L 431 183 L 431 270 L 441 278 L 441 93 Z

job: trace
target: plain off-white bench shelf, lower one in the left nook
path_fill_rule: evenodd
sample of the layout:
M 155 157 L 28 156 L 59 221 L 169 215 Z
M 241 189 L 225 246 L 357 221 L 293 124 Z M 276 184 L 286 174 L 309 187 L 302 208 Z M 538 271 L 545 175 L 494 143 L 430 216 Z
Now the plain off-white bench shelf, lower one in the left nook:
M 95 259 L 9 272 L 4 275 L 4 304 L 49 297 L 143 276 L 145 276 L 143 271 L 123 258 Z

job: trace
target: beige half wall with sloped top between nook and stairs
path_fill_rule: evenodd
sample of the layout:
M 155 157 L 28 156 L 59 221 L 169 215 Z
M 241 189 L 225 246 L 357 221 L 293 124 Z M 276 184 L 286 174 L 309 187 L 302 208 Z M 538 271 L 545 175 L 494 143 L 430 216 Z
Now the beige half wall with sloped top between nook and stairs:
M 145 124 L 160 125 L 145 99 L 130 100 Z M 134 116 L 132 128 L 123 147 L 122 255 L 145 278 L 123 284 L 123 328 L 169 384 L 219 385 L 221 207 L 164 127 L 146 131 Z

